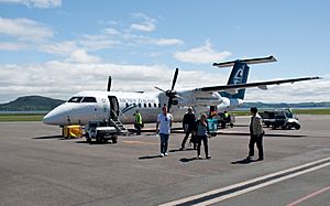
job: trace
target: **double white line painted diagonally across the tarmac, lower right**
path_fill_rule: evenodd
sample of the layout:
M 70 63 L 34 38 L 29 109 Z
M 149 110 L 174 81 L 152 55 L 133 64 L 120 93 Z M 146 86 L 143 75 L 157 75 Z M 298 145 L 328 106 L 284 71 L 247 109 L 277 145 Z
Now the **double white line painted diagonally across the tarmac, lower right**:
M 207 197 L 207 196 L 215 195 L 215 194 L 218 194 L 218 193 L 221 193 L 221 192 L 234 189 L 234 188 L 240 187 L 240 186 L 244 186 L 244 185 L 255 183 L 255 182 L 258 182 L 258 181 L 263 181 L 263 180 L 266 180 L 266 178 L 270 178 L 270 177 L 274 177 L 274 176 L 277 176 L 277 175 L 289 173 L 289 172 L 293 172 L 293 171 L 296 171 L 296 170 L 301 170 L 304 167 L 308 167 L 308 166 L 311 166 L 314 164 L 318 164 L 318 163 L 329 161 L 329 160 L 330 160 L 330 158 L 321 159 L 321 160 L 314 161 L 314 162 L 310 162 L 310 163 L 306 163 L 306 164 L 302 164 L 302 165 L 299 165 L 299 166 L 295 166 L 295 167 L 278 171 L 278 172 L 275 172 L 275 173 L 272 173 L 272 174 L 268 174 L 268 175 L 260 176 L 260 177 L 256 177 L 256 178 L 253 178 L 253 180 L 250 180 L 250 181 L 244 181 L 244 182 L 241 182 L 241 183 L 238 183 L 238 184 L 233 184 L 233 185 L 226 186 L 226 187 L 222 187 L 222 188 L 213 189 L 213 191 L 202 193 L 202 194 L 199 194 L 199 195 L 194 195 L 194 196 L 185 197 L 185 198 L 177 199 L 177 200 L 174 200 L 174 202 L 165 203 L 165 204 L 162 204 L 161 206 L 179 205 L 179 204 L 185 204 L 185 203 L 188 203 L 188 202 L 194 202 L 194 200 L 200 199 L 202 197 Z M 329 165 L 330 165 L 330 162 L 323 163 L 323 164 L 320 164 L 320 165 L 317 165 L 317 166 L 314 166 L 314 167 L 310 167 L 310 169 L 306 169 L 306 170 L 302 170 L 302 171 L 299 171 L 299 172 L 296 172 L 296 173 L 293 173 L 293 174 L 288 174 L 288 175 L 285 175 L 285 176 L 282 176 L 282 177 L 278 177 L 278 178 L 275 178 L 275 180 L 267 181 L 265 183 L 261 183 L 261 184 L 257 184 L 257 185 L 244 188 L 244 189 L 240 189 L 238 192 L 233 192 L 233 193 L 220 196 L 220 197 L 211 198 L 209 200 L 205 200 L 205 202 L 201 202 L 201 203 L 198 203 L 198 204 L 195 204 L 195 205 L 210 205 L 210 204 L 219 203 L 221 200 L 224 200 L 224 199 L 238 196 L 238 195 L 242 195 L 244 193 L 249 193 L 251 191 L 255 191 L 257 188 L 265 187 L 265 186 L 268 186 L 268 185 L 272 185 L 272 184 L 275 184 L 275 183 L 278 183 L 278 182 L 282 182 L 282 181 L 285 181 L 285 180 L 288 180 L 288 178 L 292 178 L 292 177 L 295 177 L 295 176 L 298 176 L 298 175 L 301 175 L 301 174 L 305 174 L 305 173 L 309 173 L 309 172 L 312 172 L 312 171 L 316 171 L 316 170 L 319 170 L 319 169 L 322 169 L 322 167 L 326 167 L 326 166 L 329 166 Z

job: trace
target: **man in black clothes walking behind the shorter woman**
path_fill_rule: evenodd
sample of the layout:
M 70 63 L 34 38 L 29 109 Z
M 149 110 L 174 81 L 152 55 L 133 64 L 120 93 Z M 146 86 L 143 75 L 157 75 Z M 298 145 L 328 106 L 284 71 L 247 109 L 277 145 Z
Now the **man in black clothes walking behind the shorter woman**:
M 182 142 L 182 148 L 179 150 L 186 149 L 185 145 L 186 145 L 187 139 L 189 138 L 190 133 L 193 133 L 195 121 L 196 121 L 195 113 L 193 112 L 193 108 L 189 107 L 188 112 L 184 116 L 184 120 L 183 120 L 183 128 L 184 128 L 184 131 L 186 134 Z M 191 139 L 193 139 L 193 137 L 191 137 Z M 194 143 L 194 149 L 196 149 L 196 140 L 193 140 L 193 143 Z

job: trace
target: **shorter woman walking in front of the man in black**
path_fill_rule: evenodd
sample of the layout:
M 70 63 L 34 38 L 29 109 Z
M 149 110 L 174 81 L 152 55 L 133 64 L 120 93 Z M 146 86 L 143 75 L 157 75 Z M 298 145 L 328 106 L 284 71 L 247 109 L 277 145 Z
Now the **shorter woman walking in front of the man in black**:
M 197 137 L 197 159 L 201 159 L 200 156 L 201 141 L 204 142 L 206 159 L 210 159 L 211 156 L 209 155 L 209 147 L 208 147 L 208 138 L 210 132 L 209 132 L 206 113 L 202 113 L 200 116 L 200 119 L 196 121 L 194 133 Z

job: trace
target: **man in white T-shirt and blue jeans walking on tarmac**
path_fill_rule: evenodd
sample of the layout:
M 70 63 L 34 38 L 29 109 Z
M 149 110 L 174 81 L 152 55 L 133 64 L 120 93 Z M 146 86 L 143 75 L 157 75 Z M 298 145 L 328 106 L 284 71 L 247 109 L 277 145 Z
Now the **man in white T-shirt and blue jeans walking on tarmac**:
M 168 148 L 168 139 L 170 133 L 170 127 L 173 122 L 173 117 L 167 112 L 167 107 L 162 107 L 162 113 L 158 115 L 156 132 L 160 133 L 161 137 L 161 158 L 167 156 L 167 148 Z

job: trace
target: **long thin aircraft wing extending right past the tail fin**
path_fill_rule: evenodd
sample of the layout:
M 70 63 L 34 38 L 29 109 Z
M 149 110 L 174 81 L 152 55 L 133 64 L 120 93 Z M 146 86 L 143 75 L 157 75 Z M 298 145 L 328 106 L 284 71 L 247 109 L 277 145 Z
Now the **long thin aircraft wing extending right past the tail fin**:
M 296 83 L 301 80 L 314 80 L 320 79 L 320 77 L 304 77 L 304 78 L 290 78 L 290 79 L 283 79 L 283 80 L 268 80 L 268 82 L 260 82 L 260 83 L 246 83 L 246 84 L 237 84 L 237 85 L 223 85 L 223 86 L 212 86 L 212 87 L 201 87 L 197 88 L 196 90 L 201 91 L 226 91 L 226 90 L 234 90 L 234 89 L 242 89 L 242 88 L 251 88 L 257 87 L 260 89 L 267 89 L 267 85 L 280 85 L 285 83 Z

